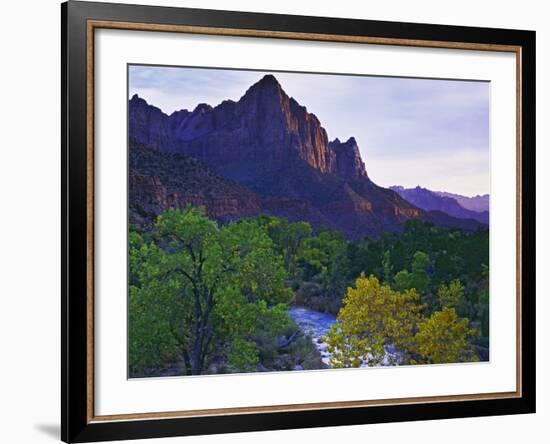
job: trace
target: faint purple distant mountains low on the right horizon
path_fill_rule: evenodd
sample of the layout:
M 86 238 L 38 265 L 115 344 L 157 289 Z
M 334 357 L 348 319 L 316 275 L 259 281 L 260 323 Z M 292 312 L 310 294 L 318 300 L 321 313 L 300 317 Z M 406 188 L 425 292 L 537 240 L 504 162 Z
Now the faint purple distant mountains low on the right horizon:
M 475 219 L 483 224 L 489 224 L 488 195 L 467 197 L 459 194 L 430 191 L 420 186 L 417 186 L 416 188 L 392 186 L 390 189 L 423 210 L 443 211 L 449 216 L 460 219 Z M 470 208 L 464 206 L 464 202 L 466 202 L 470 208 L 483 209 L 471 210 Z

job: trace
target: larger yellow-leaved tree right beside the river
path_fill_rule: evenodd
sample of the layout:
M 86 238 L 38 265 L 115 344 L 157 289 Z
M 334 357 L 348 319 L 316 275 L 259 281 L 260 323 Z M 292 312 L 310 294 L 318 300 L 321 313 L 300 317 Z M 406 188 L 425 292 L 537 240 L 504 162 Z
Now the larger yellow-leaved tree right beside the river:
M 348 288 L 337 321 L 327 334 L 330 364 L 335 368 L 378 364 L 385 345 L 402 350 L 412 346 L 422 306 L 416 290 L 403 293 L 381 285 L 375 276 L 362 274 L 355 288 Z

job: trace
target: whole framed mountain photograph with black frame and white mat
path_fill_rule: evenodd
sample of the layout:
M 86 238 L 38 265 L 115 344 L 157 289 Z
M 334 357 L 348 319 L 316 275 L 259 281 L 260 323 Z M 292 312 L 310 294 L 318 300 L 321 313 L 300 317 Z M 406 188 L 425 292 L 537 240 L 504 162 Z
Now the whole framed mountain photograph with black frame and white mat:
M 69 1 L 62 439 L 535 411 L 535 33 Z

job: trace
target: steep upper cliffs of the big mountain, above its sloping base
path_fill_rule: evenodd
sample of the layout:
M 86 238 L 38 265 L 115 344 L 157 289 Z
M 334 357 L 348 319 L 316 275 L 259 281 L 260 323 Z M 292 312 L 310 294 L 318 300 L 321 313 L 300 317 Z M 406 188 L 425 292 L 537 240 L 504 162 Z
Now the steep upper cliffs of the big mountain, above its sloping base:
M 144 103 L 136 96 L 130 101 L 132 137 L 162 152 L 191 155 L 237 180 L 253 180 L 258 166 L 273 170 L 295 160 L 321 173 L 366 177 L 355 139 L 329 143 L 319 119 L 289 98 L 272 75 L 238 102 L 227 100 L 215 108 L 201 104 L 166 116 L 152 106 L 147 112 Z

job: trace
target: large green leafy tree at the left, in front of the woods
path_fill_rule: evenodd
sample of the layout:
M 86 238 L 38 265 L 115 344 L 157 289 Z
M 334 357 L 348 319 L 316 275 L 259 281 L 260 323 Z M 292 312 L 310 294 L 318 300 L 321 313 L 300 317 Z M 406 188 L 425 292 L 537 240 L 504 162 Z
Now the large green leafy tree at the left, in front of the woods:
M 283 322 L 291 297 L 283 260 L 256 221 L 223 228 L 201 211 L 169 209 L 156 222 L 157 243 L 130 243 L 130 366 L 158 365 L 164 348 L 201 374 L 215 354 L 250 370 L 250 336 L 260 318 Z M 286 313 L 285 313 L 286 314 Z

